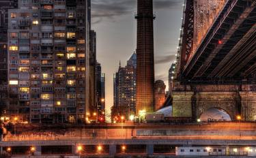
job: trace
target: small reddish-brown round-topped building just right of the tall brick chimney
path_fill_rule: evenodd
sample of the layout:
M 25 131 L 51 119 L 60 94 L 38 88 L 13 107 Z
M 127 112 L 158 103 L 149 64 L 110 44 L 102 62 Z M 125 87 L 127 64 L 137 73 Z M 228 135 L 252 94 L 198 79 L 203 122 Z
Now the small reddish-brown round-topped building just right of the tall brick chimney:
M 165 104 L 165 82 L 162 80 L 156 80 L 155 82 L 155 101 L 156 101 L 156 110 L 159 110 L 162 108 L 162 106 Z

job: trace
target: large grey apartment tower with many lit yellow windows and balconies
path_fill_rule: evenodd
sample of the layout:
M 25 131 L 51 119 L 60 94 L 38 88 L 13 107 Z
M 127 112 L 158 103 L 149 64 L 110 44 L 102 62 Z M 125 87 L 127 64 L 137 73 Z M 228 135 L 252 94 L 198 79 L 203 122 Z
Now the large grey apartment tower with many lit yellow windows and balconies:
M 9 10 L 10 118 L 80 123 L 89 117 L 89 0 L 19 0 Z

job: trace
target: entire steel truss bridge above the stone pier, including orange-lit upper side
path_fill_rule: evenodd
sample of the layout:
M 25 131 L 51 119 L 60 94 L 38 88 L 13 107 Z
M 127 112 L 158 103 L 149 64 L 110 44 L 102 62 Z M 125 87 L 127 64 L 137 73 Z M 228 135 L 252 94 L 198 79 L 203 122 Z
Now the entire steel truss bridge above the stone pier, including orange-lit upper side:
M 255 0 L 186 0 L 177 80 L 254 83 L 255 6 Z

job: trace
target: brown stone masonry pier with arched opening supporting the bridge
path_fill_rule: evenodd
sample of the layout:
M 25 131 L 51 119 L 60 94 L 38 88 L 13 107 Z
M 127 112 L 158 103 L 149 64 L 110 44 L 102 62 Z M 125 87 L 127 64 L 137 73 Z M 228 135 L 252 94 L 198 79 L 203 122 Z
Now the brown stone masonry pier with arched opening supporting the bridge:
M 210 108 L 225 110 L 232 120 L 241 114 L 244 121 L 256 120 L 256 92 L 253 85 L 196 85 L 172 93 L 173 116 L 199 118 Z

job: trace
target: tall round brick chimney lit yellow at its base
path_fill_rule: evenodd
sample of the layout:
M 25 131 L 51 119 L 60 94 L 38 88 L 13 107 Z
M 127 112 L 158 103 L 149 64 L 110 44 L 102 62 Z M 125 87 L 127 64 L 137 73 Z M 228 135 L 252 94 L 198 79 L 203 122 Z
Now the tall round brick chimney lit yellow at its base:
M 154 108 L 153 1 L 137 0 L 137 101 L 136 113 Z

